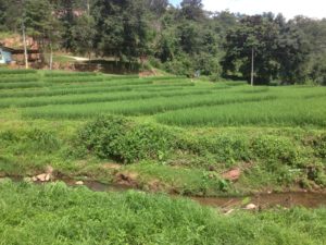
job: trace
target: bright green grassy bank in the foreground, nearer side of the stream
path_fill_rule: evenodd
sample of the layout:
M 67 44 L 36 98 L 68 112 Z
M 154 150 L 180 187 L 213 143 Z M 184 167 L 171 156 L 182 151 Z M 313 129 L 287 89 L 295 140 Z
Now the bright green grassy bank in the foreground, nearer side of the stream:
M 0 244 L 326 243 L 326 209 L 229 216 L 187 199 L 92 193 L 63 183 L 0 183 Z

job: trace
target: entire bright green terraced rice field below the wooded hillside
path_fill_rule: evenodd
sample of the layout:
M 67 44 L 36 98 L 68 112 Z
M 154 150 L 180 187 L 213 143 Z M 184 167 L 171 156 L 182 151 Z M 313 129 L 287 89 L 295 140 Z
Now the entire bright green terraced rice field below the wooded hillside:
M 178 126 L 326 125 L 325 87 L 249 87 L 183 77 L 0 71 L 0 108 L 29 119 L 111 113 Z M 237 85 L 237 86 L 235 86 Z

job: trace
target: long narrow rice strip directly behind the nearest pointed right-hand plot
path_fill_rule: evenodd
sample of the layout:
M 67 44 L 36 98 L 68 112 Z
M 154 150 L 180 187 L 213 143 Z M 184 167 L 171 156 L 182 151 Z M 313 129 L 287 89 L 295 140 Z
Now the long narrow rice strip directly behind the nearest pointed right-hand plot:
M 57 119 L 78 119 L 91 118 L 101 113 L 114 113 L 124 115 L 142 115 L 154 114 L 168 110 L 183 108 L 192 108 L 201 106 L 214 106 L 235 103 L 240 101 L 260 101 L 275 99 L 275 96 L 252 96 L 243 95 L 235 98 L 233 94 L 213 93 L 209 95 L 187 95 L 168 98 L 150 98 L 130 101 L 86 103 L 86 105 L 67 105 L 65 107 L 48 106 L 37 109 L 26 109 L 24 115 L 28 118 L 57 118 Z

